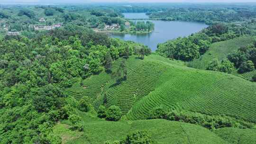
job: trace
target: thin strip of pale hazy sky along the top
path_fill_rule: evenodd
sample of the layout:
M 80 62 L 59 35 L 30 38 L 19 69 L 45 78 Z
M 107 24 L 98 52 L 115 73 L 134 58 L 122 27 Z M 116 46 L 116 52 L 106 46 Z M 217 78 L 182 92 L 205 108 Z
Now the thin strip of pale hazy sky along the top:
M 0 0 L 0 3 L 91 3 L 91 2 L 256 2 L 256 0 Z

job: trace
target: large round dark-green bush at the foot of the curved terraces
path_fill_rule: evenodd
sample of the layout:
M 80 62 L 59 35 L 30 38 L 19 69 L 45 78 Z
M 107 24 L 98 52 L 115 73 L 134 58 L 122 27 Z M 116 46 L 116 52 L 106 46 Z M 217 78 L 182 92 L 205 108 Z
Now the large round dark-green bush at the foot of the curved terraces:
M 111 106 L 106 112 L 106 119 L 109 121 L 118 121 L 122 117 L 122 112 L 118 106 Z

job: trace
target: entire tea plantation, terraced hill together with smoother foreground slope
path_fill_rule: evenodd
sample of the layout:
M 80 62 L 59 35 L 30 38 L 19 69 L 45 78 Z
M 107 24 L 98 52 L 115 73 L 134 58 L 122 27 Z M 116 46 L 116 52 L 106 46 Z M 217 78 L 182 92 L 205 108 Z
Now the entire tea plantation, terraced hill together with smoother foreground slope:
M 112 71 L 121 61 L 113 63 Z M 136 130 L 146 130 L 157 144 L 253 144 L 235 143 L 230 137 L 238 135 L 246 141 L 248 137 L 242 134 L 250 131 L 254 135 L 255 129 L 221 128 L 212 132 L 199 125 L 146 119 L 152 109 L 164 106 L 256 123 L 256 83 L 223 72 L 193 69 L 155 54 L 145 56 L 144 60 L 130 56 L 126 65 L 126 80 L 117 82 L 110 73 L 101 72 L 66 90 L 77 100 L 88 96 L 96 111 L 101 105 L 116 105 L 123 117 L 111 122 L 96 117 L 93 111 L 80 112 L 83 132 L 71 130 L 68 120 L 54 128 L 54 134 L 61 136 L 65 144 L 104 144 L 123 139 Z M 242 134 L 230 132 L 229 137 L 227 133 L 233 130 Z

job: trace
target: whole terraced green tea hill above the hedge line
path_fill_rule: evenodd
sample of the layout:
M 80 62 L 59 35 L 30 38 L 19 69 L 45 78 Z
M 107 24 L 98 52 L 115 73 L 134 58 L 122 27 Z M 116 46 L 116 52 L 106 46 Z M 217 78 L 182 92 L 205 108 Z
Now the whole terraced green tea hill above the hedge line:
M 102 72 L 67 92 L 76 99 L 91 97 L 96 109 L 103 102 L 107 107 L 117 105 L 131 120 L 145 119 L 153 108 L 165 105 L 256 122 L 256 83 L 222 72 L 189 68 L 154 54 L 144 60 L 131 56 L 126 64 L 128 78 L 121 84 Z

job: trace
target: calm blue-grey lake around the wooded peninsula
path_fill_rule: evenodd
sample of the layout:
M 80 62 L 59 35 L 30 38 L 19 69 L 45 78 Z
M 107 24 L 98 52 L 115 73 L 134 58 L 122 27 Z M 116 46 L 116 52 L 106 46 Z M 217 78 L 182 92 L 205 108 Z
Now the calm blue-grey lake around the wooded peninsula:
M 148 18 L 146 13 L 123 13 L 125 18 Z M 204 23 L 184 22 L 184 21 L 161 21 L 147 20 L 155 24 L 155 30 L 150 34 L 119 34 L 111 33 L 110 37 L 120 38 L 126 41 L 134 41 L 147 45 L 156 50 L 157 44 L 164 43 L 168 40 L 178 38 L 180 36 L 189 36 L 192 33 L 201 31 L 208 27 Z

